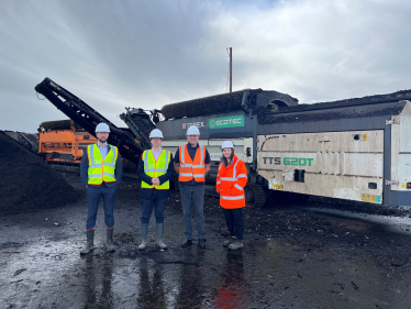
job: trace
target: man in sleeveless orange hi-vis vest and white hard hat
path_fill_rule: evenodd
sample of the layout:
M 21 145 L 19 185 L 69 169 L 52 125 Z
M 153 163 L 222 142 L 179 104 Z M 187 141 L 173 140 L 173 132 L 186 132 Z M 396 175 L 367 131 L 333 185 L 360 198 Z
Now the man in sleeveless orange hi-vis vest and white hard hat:
M 210 154 L 204 146 L 200 146 L 200 131 L 192 125 L 187 130 L 186 145 L 178 147 L 175 155 L 174 167 L 180 184 L 181 203 L 185 219 L 186 241 L 182 247 L 192 245 L 191 208 L 195 209 L 198 231 L 198 246 L 206 247 L 204 232 L 204 185 L 206 174 L 210 170 Z

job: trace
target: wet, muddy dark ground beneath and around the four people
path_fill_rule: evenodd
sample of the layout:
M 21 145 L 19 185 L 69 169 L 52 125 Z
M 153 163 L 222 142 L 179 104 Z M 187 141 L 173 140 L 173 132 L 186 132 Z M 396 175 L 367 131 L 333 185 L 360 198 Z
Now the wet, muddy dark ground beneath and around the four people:
M 156 247 L 152 218 L 148 247 L 138 252 L 140 186 L 125 177 L 114 210 L 118 250 L 104 250 L 100 209 L 97 250 L 80 256 L 86 192 L 77 175 L 62 175 L 80 201 L 0 218 L 0 308 L 410 308 L 407 213 L 382 217 L 377 208 L 370 214 L 367 205 L 367 214 L 349 218 L 312 211 L 332 201 L 274 200 L 245 208 L 245 246 L 231 252 L 222 246 L 219 200 L 207 197 L 207 250 L 181 249 L 182 211 L 174 192 L 166 207 L 169 249 Z

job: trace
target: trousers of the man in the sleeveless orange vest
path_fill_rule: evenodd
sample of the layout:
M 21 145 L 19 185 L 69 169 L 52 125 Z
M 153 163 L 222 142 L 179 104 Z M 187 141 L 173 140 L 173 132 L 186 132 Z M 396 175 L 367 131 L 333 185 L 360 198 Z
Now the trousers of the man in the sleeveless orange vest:
M 192 239 L 191 208 L 195 209 L 198 236 L 200 240 L 204 240 L 204 185 L 188 186 L 180 183 L 180 195 L 186 240 Z

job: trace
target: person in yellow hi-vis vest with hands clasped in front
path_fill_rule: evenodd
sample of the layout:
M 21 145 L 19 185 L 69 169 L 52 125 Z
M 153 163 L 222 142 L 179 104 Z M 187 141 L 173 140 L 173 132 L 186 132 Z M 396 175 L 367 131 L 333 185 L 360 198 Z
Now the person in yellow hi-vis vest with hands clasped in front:
M 162 148 L 163 133 L 154 129 L 149 133 L 153 147 L 145 151 L 140 159 L 137 175 L 142 179 L 140 197 L 142 199 L 142 243 L 138 250 L 147 246 L 147 233 L 153 207 L 156 217 L 157 244 L 160 249 L 167 249 L 163 241 L 164 209 L 169 198 L 169 179 L 175 175 L 173 154 Z

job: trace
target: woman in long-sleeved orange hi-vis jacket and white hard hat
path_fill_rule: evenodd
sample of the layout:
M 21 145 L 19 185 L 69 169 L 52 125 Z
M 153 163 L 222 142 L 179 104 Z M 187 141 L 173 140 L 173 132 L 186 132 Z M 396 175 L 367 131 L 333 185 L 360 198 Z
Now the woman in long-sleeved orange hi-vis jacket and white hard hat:
M 231 250 L 243 247 L 244 219 L 242 208 L 245 206 L 244 187 L 247 184 L 247 168 L 234 154 L 234 144 L 225 141 L 221 151 L 223 156 L 216 176 L 216 191 L 220 205 L 224 209 L 230 238 L 223 245 Z

